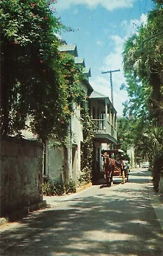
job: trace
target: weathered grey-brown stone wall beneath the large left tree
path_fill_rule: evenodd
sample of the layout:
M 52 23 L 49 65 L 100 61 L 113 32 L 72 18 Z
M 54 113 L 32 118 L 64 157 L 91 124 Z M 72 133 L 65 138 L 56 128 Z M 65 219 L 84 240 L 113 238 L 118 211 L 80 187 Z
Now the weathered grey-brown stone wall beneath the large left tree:
M 1 138 L 1 215 L 43 201 L 43 144 Z

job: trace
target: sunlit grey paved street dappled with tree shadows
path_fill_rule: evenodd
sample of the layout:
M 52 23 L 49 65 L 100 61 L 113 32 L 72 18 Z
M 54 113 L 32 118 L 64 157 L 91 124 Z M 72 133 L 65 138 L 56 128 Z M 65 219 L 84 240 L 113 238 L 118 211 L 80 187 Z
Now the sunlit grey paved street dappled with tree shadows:
M 1 256 L 162 256 L 163 234 L 148 196 L 150 173 L 129 183 L 50 197 L 51 207 L 1 228 Z

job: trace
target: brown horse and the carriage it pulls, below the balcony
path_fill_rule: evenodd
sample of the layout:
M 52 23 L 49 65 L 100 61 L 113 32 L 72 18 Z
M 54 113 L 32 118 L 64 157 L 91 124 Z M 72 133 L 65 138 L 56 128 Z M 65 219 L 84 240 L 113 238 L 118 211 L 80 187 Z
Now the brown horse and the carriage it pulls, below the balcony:
M 129 170 L 125 168 L 123 163 L 124 151 L 121 149 L 102 150 L 103 156 L 103 170 L 106 179 L 106 184 L 111 186 L 113 184 L 113 176 L 122 178 L 122 182 L 129 181 Z

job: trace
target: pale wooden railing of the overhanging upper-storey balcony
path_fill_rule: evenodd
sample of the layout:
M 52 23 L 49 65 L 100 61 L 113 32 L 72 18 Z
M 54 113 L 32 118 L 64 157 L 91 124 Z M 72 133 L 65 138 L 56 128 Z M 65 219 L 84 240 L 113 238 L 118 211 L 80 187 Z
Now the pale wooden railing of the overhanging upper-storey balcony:
M 94 133 L 96 134 L 109 134 L 111 137 L 117 139 L 117 129 L 110 124 L 109 120 L 93 119 L 94 120 Z

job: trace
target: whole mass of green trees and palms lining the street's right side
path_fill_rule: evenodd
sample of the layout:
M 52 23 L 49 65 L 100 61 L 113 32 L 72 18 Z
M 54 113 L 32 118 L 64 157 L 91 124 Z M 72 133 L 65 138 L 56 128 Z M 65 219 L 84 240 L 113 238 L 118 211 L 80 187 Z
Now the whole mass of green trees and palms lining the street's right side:
M 135 125 L 134 147 L 139 161 L 153 160 L 153 184 L 158 190 L 162 169 L 163 125 L 163 6 L 154 1 L 155 9 L 148 13 L 146 25 L 138 28 L 124 45 L 124 72 L 127 85 L 122 85 L 129 94 L 124 115 Z M 125 141 L 125 139 L 124 139 Z

